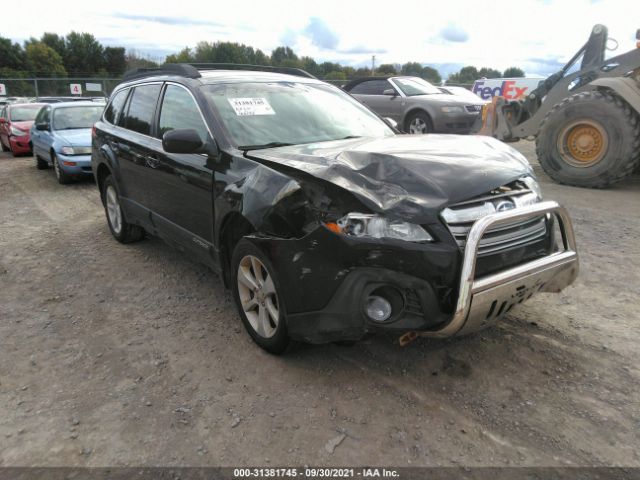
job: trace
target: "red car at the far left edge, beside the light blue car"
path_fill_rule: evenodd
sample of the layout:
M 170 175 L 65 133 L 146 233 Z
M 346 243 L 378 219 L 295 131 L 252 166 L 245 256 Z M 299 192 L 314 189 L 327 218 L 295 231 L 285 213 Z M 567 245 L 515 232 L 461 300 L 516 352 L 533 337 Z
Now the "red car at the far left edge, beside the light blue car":
M 0 144 L 14 157 L 31 153 L 29 129 L 44 103 L 12 103 L 0 110 Z

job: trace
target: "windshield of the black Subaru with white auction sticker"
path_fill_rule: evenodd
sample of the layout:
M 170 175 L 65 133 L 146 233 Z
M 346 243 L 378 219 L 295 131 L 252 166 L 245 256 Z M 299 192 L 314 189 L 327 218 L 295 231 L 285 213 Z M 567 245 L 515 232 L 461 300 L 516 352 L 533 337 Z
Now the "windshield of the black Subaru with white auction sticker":
M 228 83 L 202 89 L 239 148 L 394 135 L 366 107 L 330 85 Z

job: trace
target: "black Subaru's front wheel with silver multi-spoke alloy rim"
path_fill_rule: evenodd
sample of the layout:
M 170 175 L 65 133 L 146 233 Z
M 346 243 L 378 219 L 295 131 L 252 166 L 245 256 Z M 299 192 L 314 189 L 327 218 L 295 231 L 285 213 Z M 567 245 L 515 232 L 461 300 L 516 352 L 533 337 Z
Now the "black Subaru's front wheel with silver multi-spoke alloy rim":
M 256 271 L 258 270 L 258 271 Z M 231 288 L 247 333 L 274 355 L 289 345 L 286 309 L 275 268 L 262 251 L 242 239 L 231 257 Z

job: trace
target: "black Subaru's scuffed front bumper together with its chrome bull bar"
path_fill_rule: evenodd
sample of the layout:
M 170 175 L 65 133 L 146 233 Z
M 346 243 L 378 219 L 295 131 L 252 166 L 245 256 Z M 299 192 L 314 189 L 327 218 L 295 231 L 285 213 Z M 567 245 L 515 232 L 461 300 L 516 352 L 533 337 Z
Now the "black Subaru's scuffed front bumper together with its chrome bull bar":
M 496 261 L 502 258 L 508 267 L 482 273 L 478 246 L 487 230 L 544 215 L 555 217 L 549 224 L 558 225 L 564 250 L 554 251 L 550 233 L 523 247 L 520 261 L 507 263 L 505 253 Z M 280 273 L 289 335 L 310 343 L 358 340 L 380 330 L 404 334 L 401 343 L 417 336 L 464 335 L 492 325 L 535 293 L 562 290 L 578 273 L 571 220 L 556 202 L 481 218 L 469 231 L 464 252 L 453 239 L 367 244 L 322 227 L 303 239 L 253 240 Z M 398 314 L 388 321 L 374 322 L 365 304 L 384 289 L 397 293 L 400 308 L 394 306 Z

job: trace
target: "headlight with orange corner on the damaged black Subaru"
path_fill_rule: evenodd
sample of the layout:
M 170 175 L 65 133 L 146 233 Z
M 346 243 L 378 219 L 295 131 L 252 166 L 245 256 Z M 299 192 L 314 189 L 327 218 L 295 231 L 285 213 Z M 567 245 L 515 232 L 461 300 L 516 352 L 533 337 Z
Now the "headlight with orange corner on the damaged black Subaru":
M 433 237 L 414 223 L 390 220 L 378 215 L 349 213 L 336 223 L 325 224 L 329 230 L 359 238 L 393 238 L 407 242 L 432 242 Z

